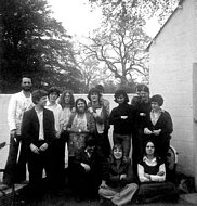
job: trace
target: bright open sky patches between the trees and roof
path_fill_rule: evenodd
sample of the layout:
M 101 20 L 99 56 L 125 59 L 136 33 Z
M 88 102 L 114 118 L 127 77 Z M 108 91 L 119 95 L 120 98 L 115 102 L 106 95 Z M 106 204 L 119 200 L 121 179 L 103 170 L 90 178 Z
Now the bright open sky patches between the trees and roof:
M 73 36 L 88 36 L 98 27 L 101 22 L 101 10 L 92 11 L 88 0 L 48 0 L 54 17 L 63 23 L 63 26 Z M 154 37 L 159 24 L 150 20 L 145 27 L 146 33 Z

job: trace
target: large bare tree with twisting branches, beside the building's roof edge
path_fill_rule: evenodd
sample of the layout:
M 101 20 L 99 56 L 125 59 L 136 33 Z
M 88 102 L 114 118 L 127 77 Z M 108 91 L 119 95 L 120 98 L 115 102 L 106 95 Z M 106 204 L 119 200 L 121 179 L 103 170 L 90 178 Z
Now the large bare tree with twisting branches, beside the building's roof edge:
M 121 85 L 133 82 L 134 75 L 146 76 L 148 54 L 145 48 L 150 38 L 143 30 L 143 16 L 136 9 L 128 13 L 122 3 L 116 18 L 107 16 L 105 20 L 102 27 L 94 31 L 94 36 L 89 37 L 91 43 L 84 46 L 86 55 L 105 63 L 106 68 Z

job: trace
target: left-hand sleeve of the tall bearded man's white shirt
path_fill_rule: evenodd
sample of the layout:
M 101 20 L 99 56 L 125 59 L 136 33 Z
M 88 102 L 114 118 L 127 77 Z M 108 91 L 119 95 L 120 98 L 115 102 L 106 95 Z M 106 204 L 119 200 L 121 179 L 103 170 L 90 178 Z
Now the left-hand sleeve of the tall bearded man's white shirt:
M 16 129 L 16 119 L 15 119 L 16 105 L 17 105 L 16 96 L 12 95 L 9 102 L 9 106 L 8 106 L 8 123 L 9 123 L 10 131 L 13 129 Z

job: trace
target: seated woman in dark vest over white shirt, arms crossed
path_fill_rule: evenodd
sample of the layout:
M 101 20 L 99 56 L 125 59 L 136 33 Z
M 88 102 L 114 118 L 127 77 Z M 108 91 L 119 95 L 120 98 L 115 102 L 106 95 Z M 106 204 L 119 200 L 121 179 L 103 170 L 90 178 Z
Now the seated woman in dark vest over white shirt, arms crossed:
M 155 154 L 154 142 L 148 140 L 145 155 L 137 164 L 139 186 L 137 201 L 149 203 L 157 201 L 178 201 L 178 190 L 171 182 L 166 182 L 165 163 Z

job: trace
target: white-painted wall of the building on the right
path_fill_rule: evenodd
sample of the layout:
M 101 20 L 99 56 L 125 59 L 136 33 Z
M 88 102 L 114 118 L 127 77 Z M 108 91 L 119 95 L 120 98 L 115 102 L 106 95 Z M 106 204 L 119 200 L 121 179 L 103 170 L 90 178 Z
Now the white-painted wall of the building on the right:
M 178 170 L 195 176 L 193 136 L 193 63 L 197 62 L 196 0 L 185 0 L 149 48 L 152 94 L 165 99 L 174 125 L 171 143 Z

